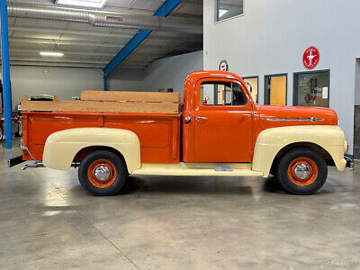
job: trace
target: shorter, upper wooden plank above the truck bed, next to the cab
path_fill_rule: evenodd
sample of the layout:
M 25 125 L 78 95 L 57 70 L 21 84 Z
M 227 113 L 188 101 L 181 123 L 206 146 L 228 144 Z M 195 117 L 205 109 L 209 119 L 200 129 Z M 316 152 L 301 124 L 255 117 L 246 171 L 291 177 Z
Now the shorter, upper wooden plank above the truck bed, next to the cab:
M 83 91 L 80 99 L 87 101 L 129 101 L 147 103 L 180 103 L 179 93 Z

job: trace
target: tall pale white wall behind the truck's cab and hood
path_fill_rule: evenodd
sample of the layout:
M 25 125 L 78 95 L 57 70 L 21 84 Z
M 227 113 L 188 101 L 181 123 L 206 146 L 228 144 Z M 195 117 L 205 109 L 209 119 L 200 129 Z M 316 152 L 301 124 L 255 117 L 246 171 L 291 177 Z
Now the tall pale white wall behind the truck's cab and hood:
M 356 58 L 360 57 L 360 1 L 244 0 L 244 15 L 215 22 L 215 0 L 204 5 L 204 69 L 259 76 L 259 103 L 264 102 L 264 75 L 288 73 L 287 103 L 293 104 L 293 72 L 306 71 L 302 54 L 320 49 L 315 70 L 330 69 L 330 108 L 338 112 L 352 153 Z

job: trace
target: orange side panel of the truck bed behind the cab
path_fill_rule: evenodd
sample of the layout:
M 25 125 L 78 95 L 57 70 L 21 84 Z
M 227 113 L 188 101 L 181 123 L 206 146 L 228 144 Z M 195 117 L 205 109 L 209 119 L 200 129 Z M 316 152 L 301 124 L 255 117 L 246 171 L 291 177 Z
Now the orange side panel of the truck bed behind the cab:
M 45 142 L 51 133 L 89 127 L 136 133 L 141 146 L 141 162 L 179 162 L 180 114 L 23 112 L 23 145 L 36 160 L 42 160 Z M 76 158 L 81 160 L 82 157 Z M 23 152 L 23 159 L 32 160 L 27 151 Z

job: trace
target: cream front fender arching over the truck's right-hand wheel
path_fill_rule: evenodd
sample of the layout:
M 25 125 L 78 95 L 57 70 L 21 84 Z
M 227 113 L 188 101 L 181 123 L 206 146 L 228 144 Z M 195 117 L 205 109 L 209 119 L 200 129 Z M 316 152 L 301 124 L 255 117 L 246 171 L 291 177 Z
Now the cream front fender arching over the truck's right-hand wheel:
M 254 149 L 252 169 L 267 177 L 279 151 L 293 143 L 313 143 L 328 151 L 339 171 L 347 165 L 347 142 L 338 126 L 288 126 L 260 132 Z

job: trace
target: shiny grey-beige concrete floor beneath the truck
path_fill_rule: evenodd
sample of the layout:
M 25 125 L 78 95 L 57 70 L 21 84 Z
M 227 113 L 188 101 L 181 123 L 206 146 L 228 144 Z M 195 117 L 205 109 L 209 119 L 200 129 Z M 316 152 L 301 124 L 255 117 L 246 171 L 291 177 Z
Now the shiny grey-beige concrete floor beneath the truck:
M 330 167 L 311 196 L 274 178 L 132 176 L 93 197 L 74 168 L 7 168 L 18 153 L 0 148 L 0 269 L 360 268 L 358 170 Z

